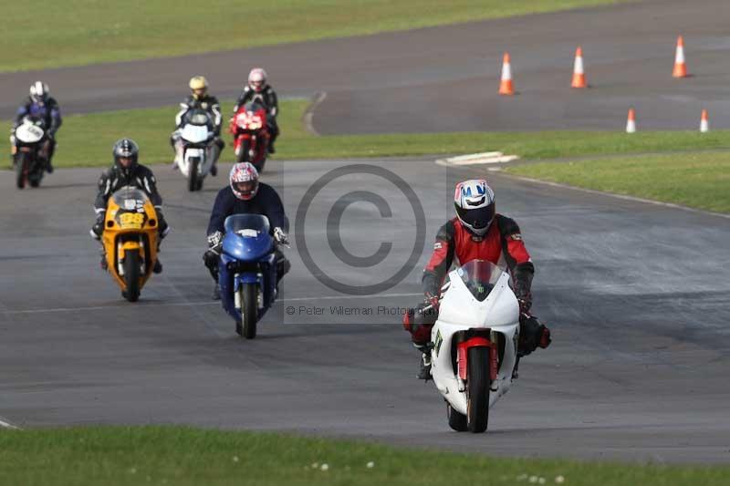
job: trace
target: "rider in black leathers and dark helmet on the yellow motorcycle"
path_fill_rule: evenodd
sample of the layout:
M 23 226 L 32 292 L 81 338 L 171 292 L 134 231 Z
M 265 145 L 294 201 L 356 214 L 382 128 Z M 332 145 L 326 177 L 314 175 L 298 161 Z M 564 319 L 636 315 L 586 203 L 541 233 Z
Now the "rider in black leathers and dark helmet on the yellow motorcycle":
M 157 191 L 157 180 L 152 171 L 138 163 L 140 148 L 130 139 L 121 139 L 114 144 L 111 153 L 114 156 L 114 165 L 101 173 L 99 178 L 99 191 L 94 202 L 94 211 L 97 213 L 97 221 L 91 227 L 91 237 L 95 240 L 101 239 L 104 233 L 104 218 L 107 213 L 107 202 L 111 195 L 122 187 L 131 186 L 144 191 L 150 198 L 150 202 L 157 212 L 158 231 L 160 240 L 170 233 L 170 226 L 162 214 L 162 197 Z M 107 261 L 101 256 L 101 267 L 106 270 Z M 158 259 L 152 271 L 155 274 L 162 272 L 162 264 Z

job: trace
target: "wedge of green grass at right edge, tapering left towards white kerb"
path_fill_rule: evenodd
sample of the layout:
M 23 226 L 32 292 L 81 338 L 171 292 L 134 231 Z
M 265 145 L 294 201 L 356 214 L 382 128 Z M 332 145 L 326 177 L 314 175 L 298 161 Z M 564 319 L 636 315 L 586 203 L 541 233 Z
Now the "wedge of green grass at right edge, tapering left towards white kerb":
M 541 162 L 506 171 L 597 191 L 730 212 L 730 153 L 726 152 Z

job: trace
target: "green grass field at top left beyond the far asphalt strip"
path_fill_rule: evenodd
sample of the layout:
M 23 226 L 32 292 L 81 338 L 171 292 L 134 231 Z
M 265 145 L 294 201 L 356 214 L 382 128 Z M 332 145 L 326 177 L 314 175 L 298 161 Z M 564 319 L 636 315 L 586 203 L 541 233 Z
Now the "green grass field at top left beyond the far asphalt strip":
M 43 2 L 41 11 L 4 2 L 0 71 L 181 56 L 620 1 L 55 0 Z

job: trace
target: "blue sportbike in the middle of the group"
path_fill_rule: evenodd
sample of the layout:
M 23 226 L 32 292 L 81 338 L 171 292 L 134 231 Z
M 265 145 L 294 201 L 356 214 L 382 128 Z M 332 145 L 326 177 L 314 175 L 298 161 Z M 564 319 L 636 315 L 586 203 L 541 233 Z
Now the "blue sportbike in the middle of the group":
M 256 322 L 276 299 L 276 245 L 261 214 L 228 216 L 224 228 L 221 303 L 235 319 L 235 332 L 253 339 Z

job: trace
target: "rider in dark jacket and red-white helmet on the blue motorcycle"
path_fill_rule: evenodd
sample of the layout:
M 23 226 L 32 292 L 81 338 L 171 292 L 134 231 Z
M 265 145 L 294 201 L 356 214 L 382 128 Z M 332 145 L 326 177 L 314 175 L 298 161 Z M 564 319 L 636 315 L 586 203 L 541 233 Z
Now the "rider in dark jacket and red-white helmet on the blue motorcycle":
M 258 171 L 250 162 L 235 164 L 229 176 L 229 185 L 218 191 L 208 223 L 208 250 L 203 262 L 215 280 L 213 298 L 221 298 L 218 284 L 218 264 L 223 247 L 224 222 L 231 214 L 263 214 L 272 228 L 276 247 L 276 276 L 280 280 L 289 271 L 290 263 L 278 244 L 287 244 L 289 222 L 284 213 L 284 204 L 276 190 L 258 181 Z

